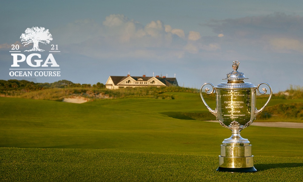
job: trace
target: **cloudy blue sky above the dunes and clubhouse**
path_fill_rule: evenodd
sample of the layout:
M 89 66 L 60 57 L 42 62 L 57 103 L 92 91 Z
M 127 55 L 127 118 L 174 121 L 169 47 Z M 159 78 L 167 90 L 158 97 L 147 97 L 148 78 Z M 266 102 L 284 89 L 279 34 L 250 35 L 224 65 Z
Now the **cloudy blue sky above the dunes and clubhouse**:
M 4 1 L 0 79 L 11 77 L 10 49 L 31 27 L 49 29 L 60 77 L 105 83 L 108 76 L 174 77 L 180 86 L 217 85 L 235 60 L 256 86 L 303 86 L 302 1 Z M 45 56 L 42 54 L 42 57 Z M 45 59 L 45 58 L 44 58 Z

